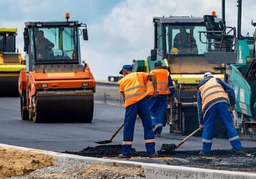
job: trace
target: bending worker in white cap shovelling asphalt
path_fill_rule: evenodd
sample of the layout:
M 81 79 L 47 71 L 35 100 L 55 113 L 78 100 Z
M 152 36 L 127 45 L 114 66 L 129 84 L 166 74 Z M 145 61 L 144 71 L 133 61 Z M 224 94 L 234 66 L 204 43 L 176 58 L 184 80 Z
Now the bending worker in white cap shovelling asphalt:
M 244 154 L 230 113 L 236 104 L 234 90 L 221 79 L 215 78 L 210 72 L 204 74 L 203 80 L 197 88 L 199 126 L 200 129 L 203 129 L 203 149 L 199 155 L 204 156 L 211 152 L 214 121 L 217 116 L 226 127 L 230 144 L 236 154 Z

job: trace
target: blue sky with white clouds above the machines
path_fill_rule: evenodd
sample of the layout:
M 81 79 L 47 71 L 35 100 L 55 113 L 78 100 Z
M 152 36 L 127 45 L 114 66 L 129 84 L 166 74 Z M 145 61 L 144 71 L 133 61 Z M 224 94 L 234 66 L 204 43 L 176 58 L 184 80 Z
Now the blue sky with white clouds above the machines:
M 237 0 L 226 0 L 226 24 L 237 26 Z M 255 0 L 243 0 L 242 34 L 254 32 Z M 24 22 L 70 20 L 86 23 L 89 41 L 80 37 L 81 57 L 96 80 L 118 75 L 124 64 L 145 59 L 153 49 L 153 16 L 203 16 L 216 11 L 221 0 L 1 0 L 0 27 L 17 27 L 17 47 L 23 52 Z M 246 9 L 246 10 L 245 10 Z M 256 22 L 256 18 L 253 19 Z

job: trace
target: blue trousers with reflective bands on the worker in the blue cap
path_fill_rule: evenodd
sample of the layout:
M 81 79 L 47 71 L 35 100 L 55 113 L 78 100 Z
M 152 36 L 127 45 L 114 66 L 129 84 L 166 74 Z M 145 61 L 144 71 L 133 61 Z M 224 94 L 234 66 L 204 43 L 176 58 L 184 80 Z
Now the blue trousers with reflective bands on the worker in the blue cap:
M 147 98 L 143 98 L 139 102 L 131 104 L 125 109 L 124 117 L 124 140 L 123 140 L 123 155 L 131 156 L 131 146 L 133 141 L 133 133 L 137 114 L 139 114 L 143 128 L 144 140 L 148 154 L 155 153 L 155 137 L 152 130 L 152 121 L 148 108 Z

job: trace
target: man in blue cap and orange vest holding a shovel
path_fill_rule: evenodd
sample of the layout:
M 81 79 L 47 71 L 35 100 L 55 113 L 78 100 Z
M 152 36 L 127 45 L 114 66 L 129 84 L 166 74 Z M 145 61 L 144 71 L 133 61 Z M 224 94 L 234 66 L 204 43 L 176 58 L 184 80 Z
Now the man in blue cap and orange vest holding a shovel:
M 153 92 L 154 96 L 158 95 L 156 77 L 152 73 L 132 72 L 132 65 L 124 65 L 119 73 L 124 75 L 118 81 L 118 84 L 120 85 L 119 91 L 123 94 L 125 117 L 123 154 L 118 155 L 118 158 L 131 158 L 131 146 L 137 114 L 139 114 L 144 127 L 144 139 L 148 156 L 157 157 L 158 153 L 155 152 L 155 137 L 146 98 L 151 92 Z M 152 82 L 150 79 L 152 79 Z

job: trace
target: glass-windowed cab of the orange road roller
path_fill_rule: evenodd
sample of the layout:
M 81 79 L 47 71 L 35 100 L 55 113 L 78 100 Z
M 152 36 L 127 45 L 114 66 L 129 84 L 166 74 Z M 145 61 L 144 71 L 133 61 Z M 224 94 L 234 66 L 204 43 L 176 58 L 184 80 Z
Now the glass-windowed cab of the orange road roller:
M 86 24 L 78 21 L 26 22 L 24 51 L 27 71 L 34 65 L 80 64 L 79 35 L 88 40 Z

